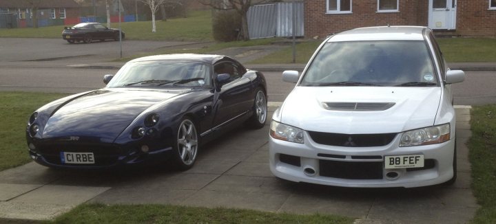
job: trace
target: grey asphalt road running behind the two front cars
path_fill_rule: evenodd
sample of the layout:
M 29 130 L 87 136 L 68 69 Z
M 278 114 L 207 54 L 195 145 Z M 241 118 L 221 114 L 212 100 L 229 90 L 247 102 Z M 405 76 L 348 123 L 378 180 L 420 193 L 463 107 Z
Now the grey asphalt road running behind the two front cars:
M 130 56 L 160 48 L 195 48 L 205 43 L 169 41 L 123 41 L 123 55 Z M 260 51 L 260 50 L 259 50 Z M 119 65 L 117 41 L 69 44 L 52 38 L 0 39 L 0 91 L 79 93 L 104 87 L 105 74 L 115 69 L 81 69 L 78 65 Z M 250 50 L 250 52 L 254 52 Z M 234 49 L 227 51 L 238 60 L 253 57 Z M 285 68 L 281 68 L 283 70 Z M 263 71 L 269 84 L 269 101 L 281 102 L 294 87 L 282 82 L 281 72 Z M 455 84 L 455 104 L 496 104 L 496 72 L 466 71 L 466 80 Z

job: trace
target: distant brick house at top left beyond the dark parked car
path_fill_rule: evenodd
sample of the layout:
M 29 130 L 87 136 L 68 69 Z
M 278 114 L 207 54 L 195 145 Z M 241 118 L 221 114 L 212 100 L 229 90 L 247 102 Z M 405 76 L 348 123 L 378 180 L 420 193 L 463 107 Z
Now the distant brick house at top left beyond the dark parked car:
M 74 0 L 1 0 L 0 13 L 17 14 L 17 27 L 32 27 L 33 9 L 39 26 L 74 24 L 79 21 L 79 4 Z

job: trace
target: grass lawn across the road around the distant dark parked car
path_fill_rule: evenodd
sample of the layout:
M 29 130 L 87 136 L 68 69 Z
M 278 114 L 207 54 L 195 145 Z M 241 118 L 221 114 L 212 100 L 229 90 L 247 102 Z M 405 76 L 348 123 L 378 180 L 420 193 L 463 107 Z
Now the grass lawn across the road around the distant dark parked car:
M 106 24 L 104 24 L 106 25 Z M 0 29 L 0 37 L 62 38 L 64 25 Z M 118 27 L 112 23 L 111 27 Z M 187 18 L 156 21 L 157 32 L 152 33 L 152 21 L 121 23 L 126 39 L 153 41 L 213 41 L 211 11 L 192 11 Z

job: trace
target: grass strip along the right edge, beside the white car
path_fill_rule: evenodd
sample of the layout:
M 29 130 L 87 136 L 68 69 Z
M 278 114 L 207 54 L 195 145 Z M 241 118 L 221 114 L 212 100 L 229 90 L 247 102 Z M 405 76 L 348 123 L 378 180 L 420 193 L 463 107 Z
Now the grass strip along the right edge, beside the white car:
M 473 223 L 496 223 L 496 105 L 474 107 L 471 129 L 472 189 L 481 205 Z

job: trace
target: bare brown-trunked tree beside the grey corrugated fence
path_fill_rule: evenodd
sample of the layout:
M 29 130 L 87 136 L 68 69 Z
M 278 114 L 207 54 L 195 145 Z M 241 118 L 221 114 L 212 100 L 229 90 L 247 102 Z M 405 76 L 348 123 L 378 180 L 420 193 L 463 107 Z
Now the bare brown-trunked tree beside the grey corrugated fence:
M 252 3 L 267 3 L 271 2 L 271 0 L 255 0 L 252 2 L 251 0 L 198 0 L 203 5 L 209 5 L 211 8 L 216 10 L 236 10 L 241 17 L 241 30 L 240 37 L 243 41 L 249 40 L 248 33 L 248 10 Z

